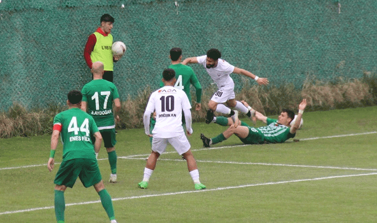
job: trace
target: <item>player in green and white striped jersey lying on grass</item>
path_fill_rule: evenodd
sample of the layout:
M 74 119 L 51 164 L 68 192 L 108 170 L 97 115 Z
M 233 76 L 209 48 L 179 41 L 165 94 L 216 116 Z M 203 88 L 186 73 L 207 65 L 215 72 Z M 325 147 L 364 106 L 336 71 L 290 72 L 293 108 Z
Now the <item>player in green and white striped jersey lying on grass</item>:
M 222 142 L 233 134 L 235 134 L 245 144 L 263 144 L 263 143 L 283 143 L 289 138 L 293 138 L 296 135 L 296 131 L 299 128 L 301 118 L 305 107 L 307 106 L 306 99 L 304 99 L 299 105 L 299 113 L 293 126 L 290 126 L 291 121 L 295 117 L 295 112 L 291 110 L 283 110 L 278 119 L 272 119 L 264 116 L 262 113 L 253 110 L 246 102 L 241 101 L 251 111 L 252 115 L 256 119 L 266 123 L 266 126 L 254 128 L 248 126 L 245 122 L 239 120 L 238 127 L 235 127 L 232 118 L 226 118 L 223 116 L 207 117 L 222 126 L 228 126 L 220 135 L 214 138 L 207 138 L 200 134 L 200 139 L 203 141 L 204 147 L 210 147 L 213 144 Z

